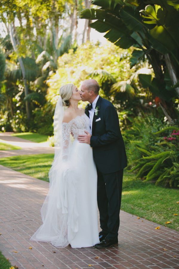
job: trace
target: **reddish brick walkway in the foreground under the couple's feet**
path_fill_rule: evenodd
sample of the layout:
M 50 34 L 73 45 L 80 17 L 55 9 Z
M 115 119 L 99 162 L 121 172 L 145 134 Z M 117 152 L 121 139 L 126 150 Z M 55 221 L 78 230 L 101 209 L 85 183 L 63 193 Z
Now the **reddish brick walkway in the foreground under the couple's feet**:
M 0 250 L 18 268 L 179 268 L 179 233 L 121 211 L 119 246 L 60 249 L 30 241 L 49 184 L 0 166 Z M 32 249 L 29 249 L 32 247 Z M 16 253 L 15 251 L 18 251 Z M 4 268 L 1 268 L 4 269 Z

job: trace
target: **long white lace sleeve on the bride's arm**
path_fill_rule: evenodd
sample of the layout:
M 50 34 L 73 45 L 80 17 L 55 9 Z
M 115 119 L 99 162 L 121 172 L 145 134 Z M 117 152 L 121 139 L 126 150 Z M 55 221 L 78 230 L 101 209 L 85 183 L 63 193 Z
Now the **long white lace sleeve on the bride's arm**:
M 70 129 L 71 129 L 70 122 L 62 123 L 62 158 L 63 160 L 68 159 L 69 144 L 70 144 Z

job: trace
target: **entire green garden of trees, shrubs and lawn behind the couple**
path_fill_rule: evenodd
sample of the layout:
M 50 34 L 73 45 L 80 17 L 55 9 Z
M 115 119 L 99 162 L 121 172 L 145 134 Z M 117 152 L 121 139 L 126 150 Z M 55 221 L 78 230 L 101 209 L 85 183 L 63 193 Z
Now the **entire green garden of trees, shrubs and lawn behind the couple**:
M 53 146 L 60 86 L 96 79 L 127 149 L 121 208 L 177 230 L 178 1 L 2 0 L 0 20 L 0 131 Z M 106 42 L 91 41 L 91 28 Z M 43 154 L 0 164 L 48 181 L 52 161 Z

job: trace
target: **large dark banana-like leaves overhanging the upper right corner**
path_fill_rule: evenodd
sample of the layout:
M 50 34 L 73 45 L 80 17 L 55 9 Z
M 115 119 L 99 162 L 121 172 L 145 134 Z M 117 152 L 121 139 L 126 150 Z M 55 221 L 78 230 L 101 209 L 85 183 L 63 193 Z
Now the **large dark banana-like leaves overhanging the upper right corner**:
M 155 77 L 141 74 L 139 80 L 149 88 L 171 122 L 178 117 L 175 99 L 179 96 L 179 10 L 177 1 L 94 0 L 100 8 L 85 9 L 81 18 L 96 20 L 90 26 L 105 33 L 121 48 L 135 47 L 131 67 L 149 60 Z

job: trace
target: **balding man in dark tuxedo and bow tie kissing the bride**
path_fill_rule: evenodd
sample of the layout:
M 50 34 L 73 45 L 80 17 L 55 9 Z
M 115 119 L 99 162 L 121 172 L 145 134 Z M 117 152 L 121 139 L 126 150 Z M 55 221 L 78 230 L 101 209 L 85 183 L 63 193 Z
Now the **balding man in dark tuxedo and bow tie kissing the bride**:
M 118 245 L 119 212 L 123 169 L 127 166 L 124 141 L 117 111 L 108 100 L 99 96 L 96 80 L 81 85 L 82 101 L 89 101 L 85 113 L 90 118 L 92 135 L 79 135 L 78 141 L 90 144 L 98 173 L 97 200 L 100 214 L 100 243 L 96 248 Z

